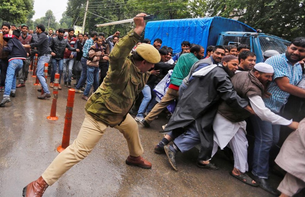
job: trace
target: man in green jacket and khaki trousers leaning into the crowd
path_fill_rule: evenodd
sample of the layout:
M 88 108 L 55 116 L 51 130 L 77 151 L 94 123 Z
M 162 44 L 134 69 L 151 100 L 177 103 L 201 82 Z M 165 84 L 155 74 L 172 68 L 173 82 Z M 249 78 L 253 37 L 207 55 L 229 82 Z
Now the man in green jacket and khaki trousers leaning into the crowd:
M 182 54 L 173 70 L 170 85 L 165 95 L 159 103 L 149 112 L 149 114 L 142 120 L 142 124 L 145 127 L 149 127 L 150 123 L 169 105 L 173 100 L 179 98 L 179 86 L 182 80 L 188 76 L 191 67 L 195 62 L 204 56 L 204 48 L 200 45 L 194 45 L 190 49 L 190 53 Z

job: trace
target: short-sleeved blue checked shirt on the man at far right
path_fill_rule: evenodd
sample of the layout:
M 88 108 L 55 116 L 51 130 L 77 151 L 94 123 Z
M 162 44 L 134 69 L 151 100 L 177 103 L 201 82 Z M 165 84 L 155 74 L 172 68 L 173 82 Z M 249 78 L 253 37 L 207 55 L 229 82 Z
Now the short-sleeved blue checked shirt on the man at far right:
M 280 90 L 274 79 L 278 77 L 288 77 L 289 83 L 297 85 L 302 79 L 302 67 L 300 63 L 292 65 L 286 58 L 285 53 L 268 58 L 265 63 L 270 64 L 274 69 L 273 81 L 268 87 L 268 92 L 272 94 L 270 98 L 264 98 L 265 106 L 272 112 L 280 112 L 286 104 L 290 94 Z

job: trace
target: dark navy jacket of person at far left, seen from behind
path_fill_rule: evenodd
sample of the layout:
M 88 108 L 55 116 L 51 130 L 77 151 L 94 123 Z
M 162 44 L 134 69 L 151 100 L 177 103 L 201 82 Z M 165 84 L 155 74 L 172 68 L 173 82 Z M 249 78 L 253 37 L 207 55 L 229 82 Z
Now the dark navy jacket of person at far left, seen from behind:
M 8 46 L 3 48 L 4 52 L 9 52 L 8 59 L 11 58 L 26 58 L 25 48 L 22 46 L 19 38 L 13 37 L 8 39 Z

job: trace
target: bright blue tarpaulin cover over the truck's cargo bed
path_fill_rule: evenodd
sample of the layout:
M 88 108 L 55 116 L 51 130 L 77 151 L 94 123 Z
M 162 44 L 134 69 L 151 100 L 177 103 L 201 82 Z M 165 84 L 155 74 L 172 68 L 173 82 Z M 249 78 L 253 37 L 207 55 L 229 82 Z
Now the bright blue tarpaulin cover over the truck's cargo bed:
M 222 17 L 173 19 L 150 21 L 145 27 L 145 36 L 151 40 L 161 38 L 162 46 L 172 47 L 173 53 L 181 52 L 181 42 L 189 41 L 203 46 L 215 45 L 219 34 L 224 31 L 255 32 L 237 20 Z

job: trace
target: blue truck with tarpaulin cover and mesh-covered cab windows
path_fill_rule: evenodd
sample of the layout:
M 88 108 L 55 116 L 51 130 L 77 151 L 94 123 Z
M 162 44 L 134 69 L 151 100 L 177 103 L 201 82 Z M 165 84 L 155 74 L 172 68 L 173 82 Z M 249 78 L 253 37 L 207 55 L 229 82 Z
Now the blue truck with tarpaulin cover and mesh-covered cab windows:
M 151 41 L 161 38 L 162 46 L 172 47 L 173 53 L 181 52 L 182 41 L 199 44 L 204 49 L 210 45 L 247 44 L 257 55 L 257 63 L 263 61 L 265 51 L 284 53 L 290 43 L 277 36 L 257 33 L 237 20 L 222 17 L 150 21 L 146 24 L 144 37 Z

